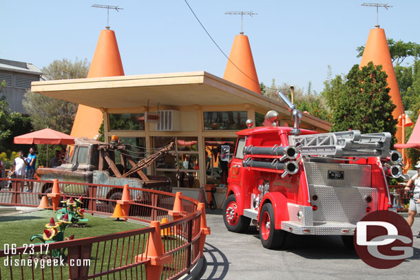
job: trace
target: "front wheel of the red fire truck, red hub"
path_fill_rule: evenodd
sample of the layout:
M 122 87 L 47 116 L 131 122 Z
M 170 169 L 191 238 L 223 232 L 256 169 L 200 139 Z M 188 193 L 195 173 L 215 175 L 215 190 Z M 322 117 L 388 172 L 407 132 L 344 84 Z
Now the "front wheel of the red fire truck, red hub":
M 239 215 L 235 195 L 231 194 L 227 197 L 227 200 L 224 202 L 223 209 L 223 221 L 227 230 L 233 231 L 233 233 L 243 233 L 249 228 L 251 219 L 249 217 Z

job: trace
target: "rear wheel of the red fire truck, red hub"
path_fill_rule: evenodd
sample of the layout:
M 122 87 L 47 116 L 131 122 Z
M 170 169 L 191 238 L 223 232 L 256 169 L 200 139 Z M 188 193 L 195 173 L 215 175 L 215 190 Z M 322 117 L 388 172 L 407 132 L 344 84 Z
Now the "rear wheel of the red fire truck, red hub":
M 281 248 L 284 244 L 284 230 L 276 230 L 274 226 L 274 210 L 271 203 L 266 203 L 260 212 L 260 239 L 262 246 L 267 249 Z

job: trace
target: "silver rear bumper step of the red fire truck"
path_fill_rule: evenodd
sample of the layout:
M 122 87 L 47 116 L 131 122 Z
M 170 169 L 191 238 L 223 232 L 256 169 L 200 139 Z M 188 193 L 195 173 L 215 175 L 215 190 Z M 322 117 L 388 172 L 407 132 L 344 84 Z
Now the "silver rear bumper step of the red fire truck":
M 282 230 L 295 235 L 354 235 L 356 224 L 314 222 L 313 226 L 302 226 L 298 222 L 282 222 Z

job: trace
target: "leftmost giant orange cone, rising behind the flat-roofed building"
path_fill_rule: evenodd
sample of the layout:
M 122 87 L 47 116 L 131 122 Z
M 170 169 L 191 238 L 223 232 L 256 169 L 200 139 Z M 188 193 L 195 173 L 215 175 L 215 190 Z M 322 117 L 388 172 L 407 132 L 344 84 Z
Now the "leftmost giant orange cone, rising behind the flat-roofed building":
M 113 30 L 102 30 L 87 78 L 109 76 L 124 76 L 124 69 L 118 44 L 116 43 L 115 32 Z M 102 122 L 103 114 L 101 110 L 78 105 L 70 135 L 73 137 L 93 138 L 98 134 Z

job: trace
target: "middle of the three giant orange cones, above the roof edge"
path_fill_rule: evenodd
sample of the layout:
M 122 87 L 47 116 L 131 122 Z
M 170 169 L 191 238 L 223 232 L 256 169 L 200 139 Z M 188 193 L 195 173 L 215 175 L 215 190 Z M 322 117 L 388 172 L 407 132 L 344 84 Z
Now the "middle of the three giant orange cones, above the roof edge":
M 248 36 L 243 34 L 235 36 L 223 78 L 261 94 Z

